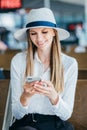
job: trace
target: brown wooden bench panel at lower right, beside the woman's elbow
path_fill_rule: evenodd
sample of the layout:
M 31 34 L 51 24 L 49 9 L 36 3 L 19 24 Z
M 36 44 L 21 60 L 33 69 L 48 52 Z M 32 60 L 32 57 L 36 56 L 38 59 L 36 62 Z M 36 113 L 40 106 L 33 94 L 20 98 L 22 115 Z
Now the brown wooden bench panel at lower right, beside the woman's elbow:
M 87 130 L 87 80 L 78 80 L 75 105 L 69 121 L 75 130 Z

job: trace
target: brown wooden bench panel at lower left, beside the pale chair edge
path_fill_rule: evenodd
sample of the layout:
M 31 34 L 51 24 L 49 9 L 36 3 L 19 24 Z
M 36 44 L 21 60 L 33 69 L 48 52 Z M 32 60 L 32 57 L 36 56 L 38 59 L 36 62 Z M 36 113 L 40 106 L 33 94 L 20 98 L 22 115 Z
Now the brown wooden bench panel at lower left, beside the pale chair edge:
M 9 89 L 9 79 L 0 80 L 0 130 L 2 130 L 2 124 L 5 114 L 5 107 L 7 102 L 7 95 Z

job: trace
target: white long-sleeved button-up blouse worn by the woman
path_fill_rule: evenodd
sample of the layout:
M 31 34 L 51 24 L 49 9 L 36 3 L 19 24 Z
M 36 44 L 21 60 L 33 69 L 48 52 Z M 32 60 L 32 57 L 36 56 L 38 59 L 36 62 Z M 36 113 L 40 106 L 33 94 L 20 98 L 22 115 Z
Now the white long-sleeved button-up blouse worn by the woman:
M 67 120 L 71 117 L 78 77 L 78 64 L 74 58 L 65 54 L 62 54 L 62 62 L 64 65 L 64 91 L 58 93 L 58 103 L 52 105 L 48 97 L 35 94 L 31 97 L 28 106 L 25 107 L 20 103 L 20 96 L 23 91 L 26 52 L 18 53 L 13 57 L 11 61 L 10 85 L 12 92 L 12 112 L 16 119 L 20 119 L 28 113 L 57 115 L 62 120 Z M 44 66 L 38 58 L 37 53 L 34 58 L 34 76 L 39 76 L 44 80 L 50 79 L 50 68 L 44 72 Z

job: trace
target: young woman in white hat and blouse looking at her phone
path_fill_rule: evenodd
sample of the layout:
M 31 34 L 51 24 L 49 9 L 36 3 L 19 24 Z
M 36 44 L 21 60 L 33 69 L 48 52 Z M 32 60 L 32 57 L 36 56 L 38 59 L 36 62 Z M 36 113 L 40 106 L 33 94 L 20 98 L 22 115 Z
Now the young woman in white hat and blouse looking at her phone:
M 60 45 L 68 37 L 48 8 L 32 9 L 26 27 L 15 33 L 17 40 L 28 41 L 28 48 L 11 62 L 16 120 L 9 130 L 74 130 L 67 120 L 73 112 L 78 65 L 61 53 Z M 29 80 L 33 78 L 40 80 Z

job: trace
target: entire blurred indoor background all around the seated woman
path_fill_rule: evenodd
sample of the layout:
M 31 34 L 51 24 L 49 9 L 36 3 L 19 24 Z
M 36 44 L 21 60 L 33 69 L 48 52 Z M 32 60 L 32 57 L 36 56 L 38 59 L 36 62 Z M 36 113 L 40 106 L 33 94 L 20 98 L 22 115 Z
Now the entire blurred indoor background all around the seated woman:
M 70 37 L 61 41 L 63 53 L 78 62 L 76 100 L 70 121 L 75 130 L 87 130 L 87 0 L 0 0 L 0 130 L 5 125 L 7 96 L 10 98 L 11 59 L 27 48 L 27 43 L 14 39 L 14 32 L 24 27 L 27 13 L 39 7 L 52 9 L 57 25 L 70 32 Z

